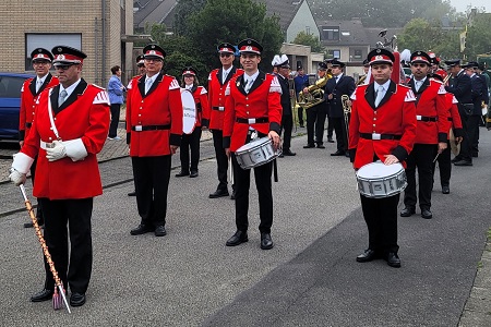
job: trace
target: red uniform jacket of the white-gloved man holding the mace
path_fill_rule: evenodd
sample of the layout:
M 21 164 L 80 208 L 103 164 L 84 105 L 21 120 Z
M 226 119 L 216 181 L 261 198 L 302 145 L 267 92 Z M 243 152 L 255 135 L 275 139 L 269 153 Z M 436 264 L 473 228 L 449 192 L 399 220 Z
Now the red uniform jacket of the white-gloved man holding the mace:
M 60 87 L 45 89 L 37 99 L 36 118 L 21 153 L 31 158 L 38 155 L 33 194 L 50 199 L 87 198 L 103 194 L 96 154 L 109 131 L 109 97 L 104 88 L 81 80 L 73 93 L 58 107 Z M 64 157 L 46 159 L 40 143 L 51 143 L 57 136 L 48 112 L 50 101 L 55 126 L 63 142 L 81 138 L 87 156 L 79 161 Z

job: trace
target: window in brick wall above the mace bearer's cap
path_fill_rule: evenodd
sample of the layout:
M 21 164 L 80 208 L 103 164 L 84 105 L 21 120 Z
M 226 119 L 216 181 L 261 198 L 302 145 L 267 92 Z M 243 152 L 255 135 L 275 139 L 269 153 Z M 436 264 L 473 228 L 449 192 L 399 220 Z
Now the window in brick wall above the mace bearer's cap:
M 45 48 L 49 51 L 56 46 L 63 45 L 82 50 L 82 34 L 34 34 L 25 35 L 25 70 L 32 71 L 31 52 L 36 48 Z

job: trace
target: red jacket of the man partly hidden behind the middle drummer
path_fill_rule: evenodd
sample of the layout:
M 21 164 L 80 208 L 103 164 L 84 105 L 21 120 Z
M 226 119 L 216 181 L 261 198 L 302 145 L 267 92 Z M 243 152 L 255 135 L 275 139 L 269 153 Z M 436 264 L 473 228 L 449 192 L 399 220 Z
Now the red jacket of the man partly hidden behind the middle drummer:
M 208 75 L 208 108 L 203 108 L 203 125 L 211 130 L 224 129 L 225 89 L 228 82 L 243 74 L 243 70 L 232 66 L 227 78 L 221 81 L 223 69 L 213 70 Z

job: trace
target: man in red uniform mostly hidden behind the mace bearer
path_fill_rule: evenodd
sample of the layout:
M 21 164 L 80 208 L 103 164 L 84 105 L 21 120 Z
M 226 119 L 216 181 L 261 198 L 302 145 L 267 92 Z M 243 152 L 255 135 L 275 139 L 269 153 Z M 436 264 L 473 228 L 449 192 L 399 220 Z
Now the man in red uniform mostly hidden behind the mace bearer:
M 53 59 L 51 52 L 44 48 L 37 48 L 31 52 L 31 59 L 33 60 L 36 77 L 26 80 L 21 88 L 21 111 L 19 116 L 19 144 L 21 147 L 24 145 L 24 140 L 29 134 L 31 126 L 33 125 L 37 97 L 46 88 L 53 87 L 59 83 L 58 78 L 49 72 Z M 36 175 L 36 162 L 37 157 L 34 158 L 33 166 L 31 166 L 31 180 L 33 183 L 34 177 Z M 40 203 L 37 204 L 36 218 L 39 226 L 45 223 Z M 24 227 L 33 227 L 33 222 L 26 222 Z

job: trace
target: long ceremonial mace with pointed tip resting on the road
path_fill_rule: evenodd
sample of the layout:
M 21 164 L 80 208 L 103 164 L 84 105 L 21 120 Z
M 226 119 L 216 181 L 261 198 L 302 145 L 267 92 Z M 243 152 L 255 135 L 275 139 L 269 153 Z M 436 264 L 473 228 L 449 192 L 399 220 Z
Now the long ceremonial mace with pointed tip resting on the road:
M 64 295 L 64 288 L 63 283 L 61 282 L 60 278 L 58 277 L 58 271 L 55 268 L 55 263 L 51 259 L 51 255 L 49 254 L 48 246 L 46 245 L 45 238 L 43 238 L 43 234 L 40 232 L 39 225 L 37 223 L 36 215 L 34 215 L 33 205 L 31 204 L 31 201 L 27 198 L 27 195 L 25 193 L 25 187 L 23 184 L 20 185 L 22 196 L 24 196 L 25 202 L 25 208 L 27 209 L 27 213 L 29 214 L 29 218 L 33 221 L 34 230 L 36 232 L 37 239 L 43 247 L 43 253 L 45 254 L 46 262 L 49 265 L 49 270 L 51 270 L 52 278 L 55 279 L 55 292 L 52 294 L 52 307 L 55 310 L 60 310 L 64 306 L 67 307 L 69 313 L 72 313 L 70 311 L 70 306 L 67 302 L 67 296 Z M 60 296 L 61 294 L 61 296 Z

